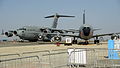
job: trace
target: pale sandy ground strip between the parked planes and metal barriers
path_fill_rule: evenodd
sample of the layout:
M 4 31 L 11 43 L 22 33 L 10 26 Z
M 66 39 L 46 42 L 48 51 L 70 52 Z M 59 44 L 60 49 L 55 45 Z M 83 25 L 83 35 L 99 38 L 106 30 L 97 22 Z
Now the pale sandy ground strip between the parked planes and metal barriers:
M 40 43 L 40 42 L 0 42 L 0 54 L 8 53 L 23 53 L 26 51 L 43 51 L 43 50 L 57 50 L 57 49 L 68 49 L 68 48 L 107 48 L 107 42 L 101 44 L 88 44 L 88 45 L 77 45 L 72 44 L 71 46 L 64 46 L 60 44 L 57 46 L 55 43 Z

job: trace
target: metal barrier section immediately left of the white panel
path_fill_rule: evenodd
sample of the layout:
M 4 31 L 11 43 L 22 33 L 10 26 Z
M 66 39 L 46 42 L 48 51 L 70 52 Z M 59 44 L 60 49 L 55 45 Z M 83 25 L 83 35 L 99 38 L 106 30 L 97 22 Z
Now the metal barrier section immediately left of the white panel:
M 68 52 L 44 54 L 42 59 L 48 60 L 50 67 L 42 65 L 42 68 L 67 68 L 68 65 Z

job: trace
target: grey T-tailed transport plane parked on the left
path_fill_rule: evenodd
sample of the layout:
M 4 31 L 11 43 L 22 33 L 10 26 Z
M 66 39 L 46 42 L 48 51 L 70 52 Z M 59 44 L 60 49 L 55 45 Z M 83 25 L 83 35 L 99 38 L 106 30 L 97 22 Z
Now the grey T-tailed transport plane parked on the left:
M 30 42 L 35 42 L 38 40 L 50 41 L 55 35 L 48 35 L 45 33 L 66 33 L 68 30 L 57 29 L 57 21 L 60 17 L 74 17 L 67 15 L 55 15 L 47 16 L 45 18 L 54 18 L 52 27 L 37 27 L 37 26 L 24 26 L 15 31 L 5 32 L 5 35 L 8 37 L 12 37 L 13 34 L 19 36 L 22 40 L 28 40 Z M 71 31 L 70 31 L 71 32 Z

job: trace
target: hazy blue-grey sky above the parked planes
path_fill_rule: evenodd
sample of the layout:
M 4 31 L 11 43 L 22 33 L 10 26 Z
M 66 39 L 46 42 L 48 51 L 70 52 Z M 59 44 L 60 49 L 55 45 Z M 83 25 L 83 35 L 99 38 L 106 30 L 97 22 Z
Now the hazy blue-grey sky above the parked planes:
M 86 23 L 102 30 L 98 33 L 120 32 L 120 0 L 0 0 L 0 30 L 22 26 L 51 27 L 55 13 L 74 15 L 60 18 L 58 28 L 79 29 L 82 13 L 86 10 Z

